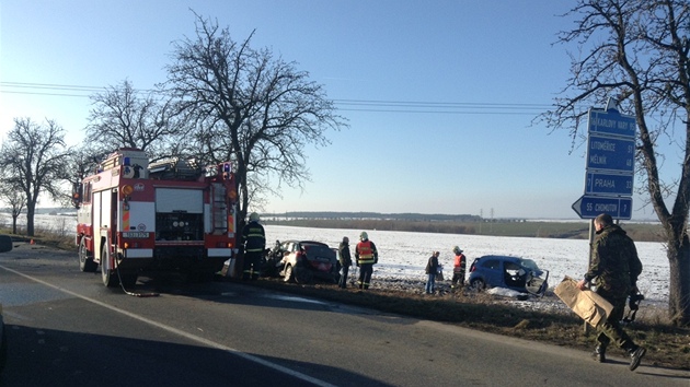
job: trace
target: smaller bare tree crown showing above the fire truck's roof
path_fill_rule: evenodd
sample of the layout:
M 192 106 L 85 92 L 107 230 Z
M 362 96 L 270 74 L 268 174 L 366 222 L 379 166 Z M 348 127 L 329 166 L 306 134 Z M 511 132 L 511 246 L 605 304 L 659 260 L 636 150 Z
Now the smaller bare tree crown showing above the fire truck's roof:
M 160 157 L 184 133 L 184 120 L 172 114 L 160 93 L 137 91 L 127 80 L 93 94 L 91 101 L 87 140 L 99 144 L 102 153 L 136 148 Z

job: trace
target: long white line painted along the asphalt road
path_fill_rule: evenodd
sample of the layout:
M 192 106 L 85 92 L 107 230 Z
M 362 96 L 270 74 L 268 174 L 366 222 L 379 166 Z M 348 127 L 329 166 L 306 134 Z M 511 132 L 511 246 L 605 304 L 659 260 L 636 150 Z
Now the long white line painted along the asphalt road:
M 217 342 L 214 342 L 214 341 L 210 341 L 210 340 L 204 339 L 204 338 L 202 338 L 202 337 L 198 337 L 198 336 L 195 336 L 195 335 L 192 335 L 192 333 L 187 333 L 187 332 L 185 332 L 185 331 L 183 331 L 183 330 L 180 330 L 180 329 L 173 328 L 173 327 L 171 327 L 171 326 L 166 326 L 166 325 L 164 325 L 164 324 L 160 324 L 160 322 L 158 322 L 158 321 L 153 321 L 153 320 L 148 319 L 148 318 L 146 318 L 146 317 L 143 317 L 143 316 L 139 316 L 139 315 L 137 315 L 137 314 L 134 314 L 134 313 L 130 313 L 130 312 L 127 312 L 127 310 L 123 310 L 123 309 L 120 309 L 120 308 L 117 308 L 117 307 L 115 307 L 115 306 L 112 306 L 112 305 L 105 304 L 105 303 L 100 302 L 100 301 L 97 301 L 97 300 L 93 300 L 93 298 L 91 298 L 91 297 L 87 297 L 87 296 L 84 296 L 84 295 L 81 295 L 81 294 L 79 294 L 79 293 L 74 293 L 74 292 L 72 292 L 72 291 L 70 291 L 70 290 L 67 290 L 67 289 L 65 289 L 65 288 L 56 286 L 56 285 L 54 285 L 54 284 L 51 284 L 51 283 L 45 282 L 45 281 L 39 280 L 39 279 L 37 279 L 37 278 L 33 278 L 33 277 L 31 277 L 31 275 L 24 274 L 24 273 L 22 273 L 22 272 L 19 272 L 19 271 L 16 271 L 16 270 L 10 269 L 10 268 L 4 267 L 4 266 L 2 266 L 2 265 L 0 265 L 0 268 L 2 268 L 2 269 L 4 269 L 4 270 L 7 270 L 7 271 L 9 271 L 9 272 L 12 272 L 12 273 L 14 273 L 14 274 L 18 274 L 18 275 L 24 277 L 24 278 L 26 278 L 26 279 L 28 279 L 28 280 L 31 280 L 31 281 L 38 282 L 38 283 L 41 283 L 41 284 L 43 284 L 43 285 L 46 285 L 46 286 L 48 286 L 48 288 L 53 288 L 53 289 L 55 289 L 55 290 L 58 290 L 58 291 L 60 291 L 60 292 L 62 292 L 62 293 L 66 293 L 66 294 L 69 294 L 69 295 L 71 295 L 71 296 L 74 296 L 74 297 L 78 297 L 78 298 L 81 298 L 81 300 L 88 301 L 88 302 L 90 302 L 90 303 L 93 303 L 93 304 L 96 304 L 96 305 L 102 306 L 102 307 L 104 307 L 104 308 L 107 308 L 107 309 L 111 309 L 111 310 L 113 310 L 113 312 L 119 313 L 119 314 L 125 315 L 125 316 L 127 316 L 127 317 L 130 317 L 130 318 L 137 319 L 137 320 L 139 320 L 139 321 L 141 321 L 141 322 L 145 322 L 145 324 L 151 325 L 151 326 L 153 326 L 153 327 L 157 327 L 157 328 L 160 328 L 160 329 L 166 330 L 166 331 L 169 331 L 169 332 L 171 332 L 171 333 L 174 333 L 174 335 L 181 336 L 181 337 L 186 338 L 186 339 L 189 339 L 189 340 L 192 340 L 192 341 L 196 341 L 196 342 L 198 342 L 198 343 L 200 343 L 200 344 L 204 344 L 204 345 L 207 345 L 207 347 L 210 347 L 210 348 L 215 348 L 215 349 L 218 349 L 218 350 L 222 350 L 222 351 L 230 352 L 230 353 L 232 353 L 232 354 L 234 354 L 234 355 L 237 355 L 237 356 L 240 356 L 240 357 L 242 357 L 242 359 L 244 359 L 244 360 L 248 360 L 248 361 L 250 361 L 250 362 L 254 362 L 254 363 L 261 364 L 261 365 L 263 365 L 263 366 L 266 366 L 266 367 L 273 368 L 273 370 L 275 370 L 275 371 L 281 372 L 281 373 L 284 373 L 284 374 L 287 374 L 287 375 L 290 375 L 290 376 L 297 377 L 297 378 L 302 379 L 302 380 L 304 380 L 304 382 L 312 383 L 312 384 L 314 384 L 314 385 L 317 385 L 317 386 L 322 386 L 322 387 L 335 387 L 335 385 L 332 385 L 332 384 L 330 384 L 330 383 L 327 383 L 327 382 L 324 382 L 324 380 L 321 380 L 321 379 L 317 379 L 317 378 L 311 377 L 311 376 L 309 376 L 309 375 L 304 375 L 304 374 L 302 374 L 302 373 L 299 373 L 299 372 L 297 372 L 297 371 L 290 370 L 290 368 L 288 368 L 288 367 L 284 367 L 284 366 L 279 365 L 279 364 L 276 364 L 276 363 L 272 363 L 272 362 L 265 361 L 265 360 L 263 360 L 263 359 L 261 359 L 261 357 L 257 357 L 257 356 L 254 356 L 254 355 L 251 355 L 251 354 L 244 353 L 244 352 L 242 352 L 242 351 L 235 350 L 235 349 L 230 348 L 230 347 L 226 347 L 226 345 L 219 344 L 219 343 L 217 343 Z

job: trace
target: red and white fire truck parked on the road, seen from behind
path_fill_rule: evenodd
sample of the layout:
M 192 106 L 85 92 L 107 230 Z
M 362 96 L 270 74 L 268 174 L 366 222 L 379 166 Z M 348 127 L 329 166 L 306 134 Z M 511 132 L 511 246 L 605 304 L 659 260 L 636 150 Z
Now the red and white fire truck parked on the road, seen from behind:
M 106 286 L 131 288 L 142 270 L 210 279 L 238 251 L 230 163 L 149 163 L 120 149 L 74 190 L 79 268 L 101 267 Z

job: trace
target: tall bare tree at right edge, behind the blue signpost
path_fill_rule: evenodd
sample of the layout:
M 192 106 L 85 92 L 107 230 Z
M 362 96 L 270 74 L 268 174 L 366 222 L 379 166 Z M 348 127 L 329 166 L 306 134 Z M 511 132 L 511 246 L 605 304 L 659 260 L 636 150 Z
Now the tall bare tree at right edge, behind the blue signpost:
M 559 43 L 576 43 L 579 51 L 571 54 L 573 77 L 542 118 L 552 128 L 570 128 L 573 141 L 582 136 L 587 108 L 608 97 L 636 118 L 644 190 L 665 231 L 669 317 L 690 324 L 690 3 L 578 0 L 568 15 L 576 26 L 562 32 Z M 672 156 L 660 154 L 663 139 L 681 153 L 671 181 L 660 178 L 659 160 Z

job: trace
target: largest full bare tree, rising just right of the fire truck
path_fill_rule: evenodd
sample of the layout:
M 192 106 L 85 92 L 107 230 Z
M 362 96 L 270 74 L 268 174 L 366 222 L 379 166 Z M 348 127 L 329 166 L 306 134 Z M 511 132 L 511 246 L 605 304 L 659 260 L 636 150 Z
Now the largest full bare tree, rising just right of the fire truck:
M 237 43 L 217 22 L 196 15 L 195 25 L 194 39 L 174 45 L 165 89 L 195 122 L 191 139 L 200 159 L 235 164 L 243 222 L 248 208 L 261 208 L 268 192 L 279 195 L 283 183 L 303 188 L 303 148 L 329 144 L 325 131 L 346 124 L 307 72 L 253 49 L 253 33 Z

